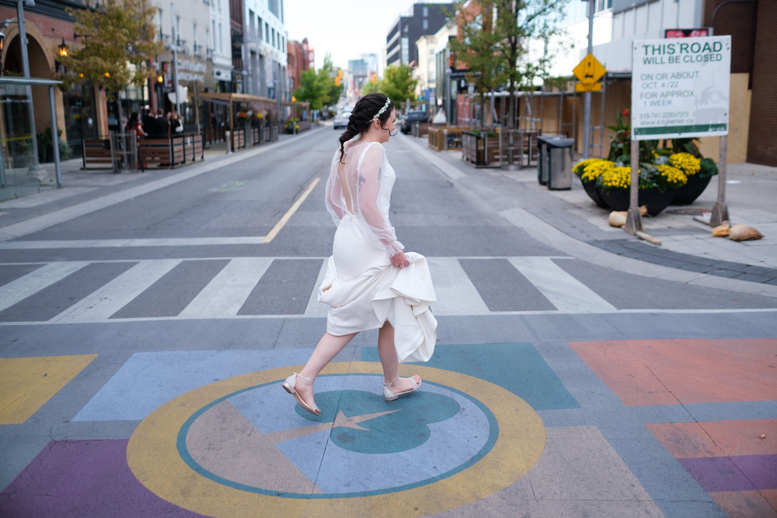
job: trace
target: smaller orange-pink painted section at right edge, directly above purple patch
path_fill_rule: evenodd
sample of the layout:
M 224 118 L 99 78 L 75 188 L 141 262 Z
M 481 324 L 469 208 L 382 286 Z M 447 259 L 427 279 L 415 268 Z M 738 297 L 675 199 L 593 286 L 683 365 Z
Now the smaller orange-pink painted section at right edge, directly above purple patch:
M 645 426 L 678 459 L 777 454 L 777 419 L 657 422 Z M 758 439 L 764 433 L 766 437 Z

